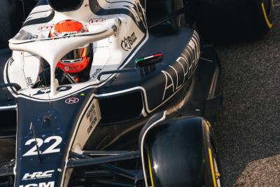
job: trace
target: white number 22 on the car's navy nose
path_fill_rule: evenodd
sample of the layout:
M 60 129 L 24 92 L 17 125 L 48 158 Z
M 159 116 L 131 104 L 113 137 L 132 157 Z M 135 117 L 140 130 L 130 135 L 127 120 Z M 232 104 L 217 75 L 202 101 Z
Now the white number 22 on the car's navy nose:
M 49 146 L 45 151 L 43 151 L 43 153 L 41 154 L 48 154 L 48 153 L 59 153 L 60 148 L 56 148 L 61 142 L 62 142 L 62 137 L 59 136 L 53 136 L 53 137 L 48 137 L 45 139 L 45 141 L 43 141 L 43 139 L 41 138 L 36 138 L 36 139 L 29 139 L 27 142 L 25 142 L 25 146 L 29 146 L 31 145 L 31 143 L 37 141 L 38 144 L 38 148 L 40 148 L 44 143 L 49 143 L 50 140 L 55 139 L 55 142 Z M 29 156 L 29 155 L 37 155 L 37 148 L 36 145 L 34 145 L 34 147 L 30 148 L 29 151 L 27 151 L 27 153 L 25 153 L 23 156 Z

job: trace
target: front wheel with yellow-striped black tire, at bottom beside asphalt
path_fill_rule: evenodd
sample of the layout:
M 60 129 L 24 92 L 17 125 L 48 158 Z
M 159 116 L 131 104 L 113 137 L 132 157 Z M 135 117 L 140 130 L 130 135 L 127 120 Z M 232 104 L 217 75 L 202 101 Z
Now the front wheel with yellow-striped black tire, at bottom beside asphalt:
M 223 186 L 218 156 L 211 144 L 214 132 L 204 118 L 176 118 L 145 134 L 141 155 L 146 186 Z

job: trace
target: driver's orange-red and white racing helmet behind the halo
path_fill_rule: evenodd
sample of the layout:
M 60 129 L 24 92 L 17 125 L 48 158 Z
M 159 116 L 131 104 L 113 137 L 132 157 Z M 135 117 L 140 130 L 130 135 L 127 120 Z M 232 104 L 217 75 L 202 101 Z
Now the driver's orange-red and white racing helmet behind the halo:
M 88 32 L 83 23 L 76 20 L 64 20 L 58 22 L 55 27 L 50 30 L 50 37 L 68 36 Z M 90 64 L 90 44 L 80 46 L 67 53 L 57 63 L 57 68 L 62 69 L 68 74 L 78 74 Z

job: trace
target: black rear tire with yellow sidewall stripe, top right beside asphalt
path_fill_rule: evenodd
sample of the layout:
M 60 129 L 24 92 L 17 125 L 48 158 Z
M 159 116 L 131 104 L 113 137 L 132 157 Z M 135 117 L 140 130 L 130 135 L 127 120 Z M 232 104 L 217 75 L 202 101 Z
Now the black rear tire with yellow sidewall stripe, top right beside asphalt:
M 273 25 L 272 0 L 190 0 L 202 39 L 228 43 L 259 39 Z

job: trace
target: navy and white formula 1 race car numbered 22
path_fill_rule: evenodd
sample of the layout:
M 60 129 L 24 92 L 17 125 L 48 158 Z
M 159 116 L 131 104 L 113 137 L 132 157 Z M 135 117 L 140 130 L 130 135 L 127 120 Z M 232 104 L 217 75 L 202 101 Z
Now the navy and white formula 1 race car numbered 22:
M 207 41 L 263 36 L 272 1 L 0 5 L 0 186 L 223 185 Z

